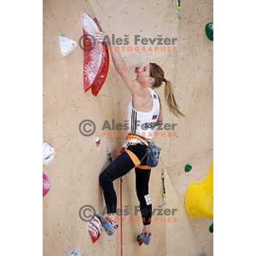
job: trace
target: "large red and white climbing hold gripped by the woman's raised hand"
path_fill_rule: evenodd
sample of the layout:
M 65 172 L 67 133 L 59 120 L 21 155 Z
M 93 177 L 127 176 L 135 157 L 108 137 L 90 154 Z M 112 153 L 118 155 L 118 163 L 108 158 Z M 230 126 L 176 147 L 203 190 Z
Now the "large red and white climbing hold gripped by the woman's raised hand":
M 109 67 L 108 46 L 98 44 L 94 35 L 101 31 L 99 22 L 84 13 L 84 92 L 91 88 L 94 96 L 101 90 Z

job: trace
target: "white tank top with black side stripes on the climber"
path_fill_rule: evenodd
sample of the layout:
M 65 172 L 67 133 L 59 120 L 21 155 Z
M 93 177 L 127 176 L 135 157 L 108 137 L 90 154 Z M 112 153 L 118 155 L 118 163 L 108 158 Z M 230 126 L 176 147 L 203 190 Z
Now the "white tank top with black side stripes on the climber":
M 131 102 L 128 105 L 128 132 L 140 135 L 146 139 L 152 139 L 154 137 L 154 130 L 160 112 L 160 102 L 157 93 L 149 87 L 148 90 L 152 96 L 153 108 L 149 112 L 138 111 L 133 107 L 131 99 Z

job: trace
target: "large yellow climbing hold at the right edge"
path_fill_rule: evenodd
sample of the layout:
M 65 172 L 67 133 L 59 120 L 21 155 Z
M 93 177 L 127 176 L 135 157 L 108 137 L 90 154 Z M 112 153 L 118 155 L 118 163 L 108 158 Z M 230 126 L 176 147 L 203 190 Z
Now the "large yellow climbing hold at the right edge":
M 207 177 L 188 186 L 185 205 L 186 212 L 191 218 L 213 218 L 213 161 Z

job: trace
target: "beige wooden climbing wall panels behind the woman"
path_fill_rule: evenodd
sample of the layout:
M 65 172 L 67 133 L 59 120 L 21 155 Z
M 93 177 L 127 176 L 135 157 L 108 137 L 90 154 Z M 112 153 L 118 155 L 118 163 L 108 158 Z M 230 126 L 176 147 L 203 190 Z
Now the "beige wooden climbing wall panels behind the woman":
M 177 102 L 186 118 L 176 119 L 163 105 L 164 122 L 177 123 L 178 138 L 158 137 L 163 148 L 162 160 L 153 169 L 150 194 L 153 208 L 162 205 L 161 168 L 166 169 L 165 208 L 177 208 L 177 223 L 153 222 L 150 246 L 139 247 L 136 236 L 140 223 L 123 224 L 124 256 L 211 256 L 213 234 L 210 219 L 191 219 L 184 209 L 184 194 L 192 180 L 205 177 L 213 158 L 213 42 L 205 35 L 206 23 L 213 20 L 212 0 L 181 1 L 178 10 L 172 0 L 44 0 L 43 49 L 43 137 L 55 148 L 55 159 L 44 166 L 51 180 L 51 190 L 43 199 L 44 256 L 70 255 L 74 248 L 80 255 L 121 255 L 120 229 L 109 237 L 102 234 L 91 244 L 86 223 L 79 218 L 79 209 L 90 204 L 96 210 L 104 208 L 98 177 L 107 164 L 104 150 L 116 154 L 121 138 L 106 138 L 96 146 L 103 120 L 123 122 L 129 92 L 110 64 L 110 70 L 99 96 L 83 93 L 83 53 L 79 46 L 63 58 L 58 36 L 67 35 L 78 42 L 82 35 L 82 13 L 94 14 L 106 32 L 123 38 L 124 34 L 143 37 L 174 37 L 177 52 L 124 52 L 130 71 L 134 65 L 154 61 L 172 81 Z M 133 47 L 133 45 L 131 45 Z M 163 88 L 158 92 L 163 99 Z M 162 100 L 162 102 L 164 102 Z M 91 119 L 96 133 L 84 137 L 79 123 Z M 185 165 L 191 172 L 184 172 Z M 119 193 L 119 180 L 115 183 Z M 137 205 L 134 170 L 124 177 L 123 205 Z M 134 218 L 134 213 L 129 215 Z

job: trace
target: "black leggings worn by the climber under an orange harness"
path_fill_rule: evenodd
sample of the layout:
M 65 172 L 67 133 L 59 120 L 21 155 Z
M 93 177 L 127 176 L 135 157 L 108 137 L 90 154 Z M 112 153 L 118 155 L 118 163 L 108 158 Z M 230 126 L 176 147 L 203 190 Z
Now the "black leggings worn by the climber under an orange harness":
M 147 146 L 142 144 L 128 147 L 128 150 L 134 152 L 141 165 L 145 163 L 145 154 Z M 134 161 L 127 152 L 122 153 L 114 159 L 108 167 L 100 174 L 99 183 L 103 189 L 106 208 L 108 213 L 116 213 L 116 192 L 113 187 L 113 181 L 119 177 L 126 175 L 131 169 L 135 167 Z M 148 193 L 148 183 L 151 169 L 139 169 L 135 167 L 136 174 L 136 192 L 137 198 L 140 202 L 140 212 L 143 220 L 143 225 L 151 223 L 152 202 Z

